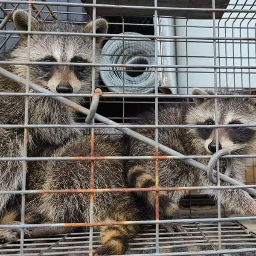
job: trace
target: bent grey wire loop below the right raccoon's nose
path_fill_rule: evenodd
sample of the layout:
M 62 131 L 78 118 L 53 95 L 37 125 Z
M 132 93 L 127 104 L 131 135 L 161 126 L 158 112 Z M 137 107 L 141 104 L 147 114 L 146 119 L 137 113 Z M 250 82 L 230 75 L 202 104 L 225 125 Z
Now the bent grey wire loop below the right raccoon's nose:
M 214 184 L 217 184 L 218 180 L 217 180 L 217 172 L 213 170 L 213 168 L 215 167 L 216 162 L 226 154 L 228 154 L 228 151 L 227 149 L 223 148 L 221 150 L 218 150 L 215 154 L 213 154 L 209 160 L 209 163 L 207 165 L 207 176 L 209 180 Z M 224 172 L 224 175 L 229 177 L 232 171 L 233 159 L 227 158 L 226 160 L 227 160 L 227 167 Z M 222 180 L 221 180 L 221 183 L 223 183 Z

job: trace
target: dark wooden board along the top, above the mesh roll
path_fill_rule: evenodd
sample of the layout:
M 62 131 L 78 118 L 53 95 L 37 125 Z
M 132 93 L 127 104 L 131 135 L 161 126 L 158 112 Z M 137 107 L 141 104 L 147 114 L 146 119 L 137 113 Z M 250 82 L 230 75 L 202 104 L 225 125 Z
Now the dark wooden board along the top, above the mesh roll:
M 93 3 L 93 0 L 81 0 L 82 3 Z M 96 7 L 97 16 L 123 16 L 123 17 L 151 17 L 154 9 L 122 8 L 122 6 L 151 6 L 154 0 L 96 0 L 97 4 L 114 5 L 115 7 Z M 226 9 L 228 0 L 215 0 L 216 9 Z M 158 7 L 175 8 L 212 8 L 212 0 L 158 0 Z M 85 8 L 87 14 L 92 17 L 92 8 Z M 220 19 L 224 12 L 215 12 L 216 19 Z M 183 11 L 183 10 L 158 10 L 158 15 L 186 17 L 191 19 L 212 19 L 212 12 L 205 11 Z

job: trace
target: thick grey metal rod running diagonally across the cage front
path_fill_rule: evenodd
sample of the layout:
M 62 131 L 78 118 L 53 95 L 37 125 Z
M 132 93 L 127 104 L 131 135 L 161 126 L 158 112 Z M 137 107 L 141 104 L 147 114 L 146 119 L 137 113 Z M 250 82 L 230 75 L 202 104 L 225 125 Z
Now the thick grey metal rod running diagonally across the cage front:
M 5 70 L 3 69 L 2 67 L 0 67 L 0 73 L 3 75 L 3 76 L 6 76 L 6 77 L 9 77 L 10 79 L 13 79 L 14 81 L 17 81 L 17 82 L 20 82 L 22 84 L 26 84 L 26 80 L 9 72 L 8 70 Z M 29 87 L 32 88 L 33 90 L 36 90 L 38 92 L 41 92 L 41 93 L 49 93 L 52 94 L 52 92 L 44 89 L 43 87 L 40 87 L 38 86 L 37 84 L 34 84 L 32 82 L 29 82 Z M 53 96 L 54 99 L 56 99 L 57 101 L 59 102 L 62 102 L 64 103 L 65 105 L 69 106 L 70 108 L 72 108 L 73 110 L 75 111 L 79 111 L 81 113 L 84 113 L 86 115 L 88 115 L 90 113 L 89 109 L 87 108 L 84 108 L 82 107 L 81 105 L 79 104 L 76 104 L 68 99 L 65 99 L 63 97 L 57 97 L 57 96 Z M 119 124 L 104 117 L 104 116 L 101 116 L 99 114 L 95 114 L 95 119 L 98 120 L 99 122 L 103 122 L 105 124 L 108 124 L 108 125 L 116 125 L 118 126 Z M 145 137 L 135 131 L 132 131 L 130 130 L 129 128 L 118 128 L 119 130 L 121 130 L 122 132 L 124 132 L 125 134 L 129 135 L 129 136 L 132 136 L 134 138 L 136 138 L 137 140 L 140 140 L 140 141 L 143 141 L 144 143 L 148 144 L 148 145 L 151 145 L 153 147 L 155 147 L 155 141 L 154 140 L 151 140 L 150 138 L 148 137 Z M 173 155 L 173 156 L 177 156 L 177 157 L 184 157 L 183 154 L 180 154 L 179 152 L 171 149 L 171 148 L 168 148 L 162 144 L 159 144 L 159 149 L 163 152 L 165 152 L 166 154 L 168 155 Z M 207 172 L 207 166 L 205 166 L 204 164 L 202 163 L 199 163 L 193 159 L 184 159 L 184 161 L 192 166 L 194 166 L 195 168 L 198 168 L 198 169 L 201 169 L 203 170 L 204 172 Z M 228 182 L 230 184 L 233 184 L 233 185 L 241 185 L 243 186 L 244 184 L 241 183 L 240 181 L 238 180 L 234 180 L 230 177 L 227 177 L 226 175 L 223 175 L 222 173 L 219 174 L 221 180 L 225 181 L 225 182 Z M 245 189 L 247 192 L 251 193 L 252 195 L 256 195 L 256 190 L 255 189 Z

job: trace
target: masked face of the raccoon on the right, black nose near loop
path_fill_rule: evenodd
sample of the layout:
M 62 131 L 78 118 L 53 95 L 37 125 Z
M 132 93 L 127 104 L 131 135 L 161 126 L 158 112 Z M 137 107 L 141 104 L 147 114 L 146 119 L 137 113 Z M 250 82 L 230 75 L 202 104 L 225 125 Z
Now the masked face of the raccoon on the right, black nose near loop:
M 218 94 L 227 93 L 228 91 L 222 91 Z M 193 94 L 207 95 L 209 93 L 195 89 Z M 186 123 L 192 125 L 256 125 L 256 99 L 218 98 L 217 117 L 214 99 L 195 99 L 195 106 L 190 109 Z M 189 129 L 192 145 L 201 154 L 214 154 L 217 147 L 216 131 L 218 131 L 218 149 L 226 148 L 230 154 L 253 154 L 256 151 L 255 127 Z

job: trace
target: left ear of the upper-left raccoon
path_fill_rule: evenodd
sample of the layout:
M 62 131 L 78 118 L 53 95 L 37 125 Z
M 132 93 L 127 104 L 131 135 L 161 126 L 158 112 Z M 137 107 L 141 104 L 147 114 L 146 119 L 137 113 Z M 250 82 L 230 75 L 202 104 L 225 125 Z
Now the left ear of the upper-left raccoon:
M 29 14 L 21 9 L 18 9 L 13 14 L 13 22 L 15 29 L 17 30 L 28 30 L 28 20 L 29 20 Z M 35 19 L 34 17 L 31 17 L 31 30 L 41 30 L 41 23 Z M 21 37 L 27 37 L 27 35 L 23 34 L 20 35 Z

